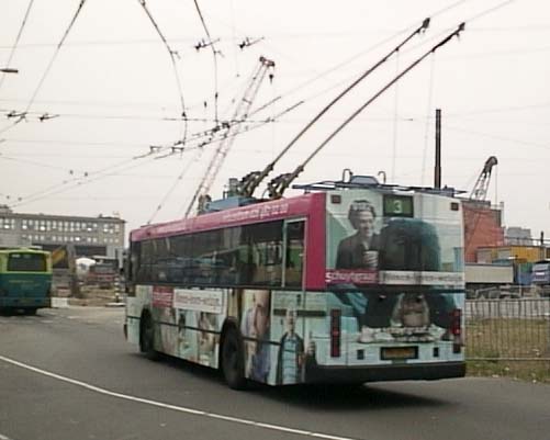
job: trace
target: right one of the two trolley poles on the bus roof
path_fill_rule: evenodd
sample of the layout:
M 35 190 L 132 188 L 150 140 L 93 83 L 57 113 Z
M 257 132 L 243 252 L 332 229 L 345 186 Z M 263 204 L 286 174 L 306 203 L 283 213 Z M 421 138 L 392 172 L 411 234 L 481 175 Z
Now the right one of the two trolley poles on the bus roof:
M 300 163 L 293 172 L 281 174 L 273 179 L 269 183 L 269 194 L 271 199 L 280 199 L 284 190 L 289 188 L 292 181 L 304 170 L 305 166 L 338 134 L 340 133 L 351 121 L 353 121 L 367 106 L 372 104 L 381 94 L 383 94 L 386 90 L 389 90 L 395 82 L 397 82 L 401 78 L 403 78 L 406 74 L 408 74 L 412 69 L 414 69 L 417 65 L 419 65 L 425 58 L 429 55 L 434 54 L 439 47 L 447 44 L 454 36 L 459 36 L 460 33 L 464 30 L 465 23 L 460 23 L 460 25 L 449 35 L 447 35 L 444 40 L 433 46 L 429 50 L 427 50 L 424 55 L 413 61 L 408 67 L 402 70 L 395 78 L 393 78 L 390 82 L 388 82 L 382 89 L 380 89 L 373 97 L 371 97 L 364 104 L 362 104 L 359 109 L 357 109 L 348 119 L 346 119 L 339 126 L 336 128 L 315 150 L 302 162 Z

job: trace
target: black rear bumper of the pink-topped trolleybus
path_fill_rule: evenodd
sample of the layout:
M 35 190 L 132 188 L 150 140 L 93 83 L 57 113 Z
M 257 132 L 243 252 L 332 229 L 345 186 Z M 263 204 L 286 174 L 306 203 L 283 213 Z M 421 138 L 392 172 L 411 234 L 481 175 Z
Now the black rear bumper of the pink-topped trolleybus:
M 322 366 L 307 369 L 306 382 L 382 382 L 463 377 L 465 362 L 436 362 L 374 366 Z

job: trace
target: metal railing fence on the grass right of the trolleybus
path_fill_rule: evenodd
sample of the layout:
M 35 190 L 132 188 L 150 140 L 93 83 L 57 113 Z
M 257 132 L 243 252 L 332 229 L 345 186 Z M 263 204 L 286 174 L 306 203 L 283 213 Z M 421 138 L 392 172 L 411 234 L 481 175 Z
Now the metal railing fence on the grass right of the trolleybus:
M 468 300 L 468 360 L 550 361 L 550 298 Z

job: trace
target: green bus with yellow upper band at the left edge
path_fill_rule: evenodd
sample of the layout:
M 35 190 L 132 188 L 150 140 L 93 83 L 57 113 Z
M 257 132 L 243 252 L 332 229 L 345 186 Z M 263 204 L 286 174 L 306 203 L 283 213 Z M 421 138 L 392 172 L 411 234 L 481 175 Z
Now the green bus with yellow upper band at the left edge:
M 0 311 L 34 315 L 49 307 L 52 255 L 35 249 L 0 250 Z

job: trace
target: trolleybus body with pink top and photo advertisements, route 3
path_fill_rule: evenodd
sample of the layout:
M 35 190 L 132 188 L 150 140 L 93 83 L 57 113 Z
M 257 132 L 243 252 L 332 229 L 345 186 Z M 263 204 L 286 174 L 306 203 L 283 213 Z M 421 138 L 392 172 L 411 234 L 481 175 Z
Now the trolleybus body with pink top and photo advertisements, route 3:
M 306 190 L 133 230 L 127 339 L 235 388 L 463 376 L 460 202 Z

